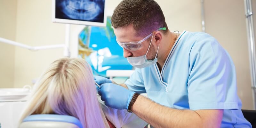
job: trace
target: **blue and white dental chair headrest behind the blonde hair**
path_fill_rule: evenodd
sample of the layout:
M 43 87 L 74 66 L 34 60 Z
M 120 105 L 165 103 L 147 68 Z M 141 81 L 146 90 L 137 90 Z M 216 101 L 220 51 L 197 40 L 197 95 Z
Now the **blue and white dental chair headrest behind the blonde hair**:
M 39 114 L 26 117 L 19 128 L 83 128 L 83 126 L 73 116 Z

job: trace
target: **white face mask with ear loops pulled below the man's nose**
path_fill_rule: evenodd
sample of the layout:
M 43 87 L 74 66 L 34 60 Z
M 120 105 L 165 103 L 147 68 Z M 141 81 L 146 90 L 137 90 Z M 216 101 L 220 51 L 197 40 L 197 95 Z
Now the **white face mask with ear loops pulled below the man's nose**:
M 153 35 L 152 35 L 152 38 L 151 38 L 151 41 L 150 41 L 148 50 L 149 50 L 149 48 L 150 48 L 152 39 L 153 39 Z M 159 48 L 159 46 L 158 46 L 158 48 Z M 158 48 L 157 48 L 156 56 L 157 56 L 157 53 L 158 53 Z M 147 53 L 148 53 L 148 51 L 147 51 Z M 154 60 L 148 60 L 148 59 L 147 59 L 147 53 L 146 53 L 146 55 L 142 55 L 142 56 L 138 56 L 138 57 L 127 57 L 127 60 L 128 60 L 128 62 L 129 62 L 133 67 L 136 67 L 136 68 L 145 68 L 145 67 L 147 67 L 147 66 L 150 66 L 150 65 L 152 65 L 152 64 L 155 64 L 155 63 L 157 62 L 156 56 L 155 56 L 155 59 L 154 59 Z

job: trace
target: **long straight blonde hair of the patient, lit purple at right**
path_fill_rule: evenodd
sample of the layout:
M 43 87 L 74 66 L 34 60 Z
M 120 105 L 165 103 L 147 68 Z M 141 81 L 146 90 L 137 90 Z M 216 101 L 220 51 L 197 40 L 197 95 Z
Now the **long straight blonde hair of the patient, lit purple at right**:
M 85 60 L 56 60 L 36 82 L 20 123 L 33 114 L 60 114 L 78 118 L 83 127 L 109 127 L 96 93 L 92 69 Z

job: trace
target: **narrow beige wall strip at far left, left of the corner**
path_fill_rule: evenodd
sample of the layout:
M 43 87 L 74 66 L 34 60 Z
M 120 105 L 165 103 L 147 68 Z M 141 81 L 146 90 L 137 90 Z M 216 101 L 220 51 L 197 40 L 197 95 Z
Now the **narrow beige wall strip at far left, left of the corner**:
M 17 0 L 0 0 L 0 37 L 15 40 Z M 12 88 L 15 47 L 0 43 L 0 88 Z

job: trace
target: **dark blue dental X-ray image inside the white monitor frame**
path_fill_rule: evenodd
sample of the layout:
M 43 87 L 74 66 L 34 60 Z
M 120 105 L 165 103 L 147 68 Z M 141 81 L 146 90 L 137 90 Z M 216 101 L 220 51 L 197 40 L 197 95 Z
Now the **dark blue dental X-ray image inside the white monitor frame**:
M 55 18 L 104 22 L 105 0 L 55 0 Z

